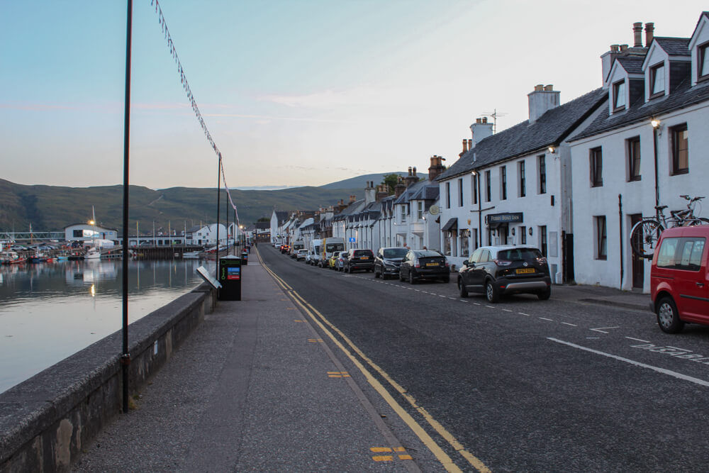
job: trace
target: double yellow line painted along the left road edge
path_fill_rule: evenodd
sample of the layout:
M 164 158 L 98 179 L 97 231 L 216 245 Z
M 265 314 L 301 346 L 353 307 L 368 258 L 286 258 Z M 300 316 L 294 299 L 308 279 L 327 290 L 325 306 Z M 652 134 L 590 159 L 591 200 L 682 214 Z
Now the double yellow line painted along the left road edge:
M 352 355 L 352 352 L 356 353 L 359 358 L 364 360 L 364 362 L 369 365 L 370 368 L 374 369 L 375 372 L 379 374 L 383 379 L 388 382 L 393 389 L 395 389 L 401 396 L 403 396 L 406 401 L 408 401 L 411 406 L 418 411 L 418 413 L 423 416 L 426 422 L 442 437 L 444 438 L 447 443 L 449 443 L 454 450 L 456 450 L 462 457 L 464 457 L 465 460 L 471 464 L 472 467 L 477 469 L 480 473 L 491 473 L 490 469 L 485 466 L 485 464 L 479 460 L 479 458 L 475 457 L 475 455 L 472 455 L 470 452 L 464 449 L 463 445 L 456 440 L 456 438 L 446 430 L 443 425 L 441 425 L 438 421 L 436 421 L 428 411 L 425 410 L 422 406 L 419 406 L 416 400 L 414 399 L 411 394 L 408 394 L 406 392 L 406 389 L 403 389 L 403 387 L 398 384 L 396 381 L 394 381 L 389 374 L 387 374 L 384 369 L 381 369 L 376 363 L 374 363 L 372 360 L 367 357 L 367 355 L 364 355 L 364 352 L 362 350 L 359 350 L 357 345 L 354 345 L 352 343 L 352 340 L 347 338 L 347 335 L 342 333 L 340 329 L 335 327 L 330 321 L 328 321 L 325 316 L 323 316 L 322 313 L 320 313 L 316 308 L 311 306 L 311 304 L 308 304 L 308 302 L 303 299 L 303 297 L 298 294 L 291 286 L 289 286 L 288 283 L 286 283 L 283 279 L 281 279 L 276 273 L 274 273 L 269 267 L 267 267 L 259 253 L 259 261 L 261 262 L 261 265 L 264 269 L 266 269 L 269 274 L 276 280 L 276 282 L 286 291 L 288 291 L 288 294 L 291 295 L 293 298 L 294 302 L 303 310 L 304 313 L 308 314 L 308 317 L 311 318 L 311 320 L 320 327 L 320 330 L 323 330 L 323 333 L 325 335 L 328 335 L 330 340 L 333 341 L 337 347 L 342 350 L 342 352 L 354 363 L 354 365 L 359 369 L 360 372 L 364 375 L 364 377 L 367 379 L 367 382 L 372 385 L 372 387 L 376 390 L 376 392 L 379 393 L 379 395 L 386 401 L 389 406 L 395 411 L 398 416 L 408 425 L 411 430 L 413 430 L 413 433 L 415 433 L 418 438 L 423 442 L 423 444 L 428 447 L 428 449 L 435 455 L 437 460 L 441 462 L 443 467 L 448 472 L 461 472 L 462 470 L 459 469 L 457 464 L 453 462 L 453 460 L 447 455 L 446 452 L 443 451 L 443 449 L 435 443 L 435 440 L 433 440 L 430 435 L 421 427 L 411 415 L 409 415 L 408 412 L 400 405 L 398 402 L 393 399 L 391 394 L 389 394 L 389 391 L 387 391 L 384 386 L 381 385 L 379 380 L 377 380 L 371 372 L 369 372 L 369 369 L 365 367 L 362 362 L 359 361 L 357 357 Z M 349 346 L 346 347 L 343 345 L 340 340 L 338 340 L 335 335 L 333 334 L 337 333 L 337 335 L 344 340 L 344 342 Z

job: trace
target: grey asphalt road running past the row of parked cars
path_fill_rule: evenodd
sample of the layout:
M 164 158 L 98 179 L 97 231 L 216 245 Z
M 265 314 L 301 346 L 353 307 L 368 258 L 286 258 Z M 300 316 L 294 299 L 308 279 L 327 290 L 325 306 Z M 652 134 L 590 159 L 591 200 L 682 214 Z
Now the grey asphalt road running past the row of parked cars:
M 649 311 L 563 288 L 489 304 L 454 277 L 411 285 L 259 252 L 464 471 L 707 471 L 709 328 L 666 335 Z

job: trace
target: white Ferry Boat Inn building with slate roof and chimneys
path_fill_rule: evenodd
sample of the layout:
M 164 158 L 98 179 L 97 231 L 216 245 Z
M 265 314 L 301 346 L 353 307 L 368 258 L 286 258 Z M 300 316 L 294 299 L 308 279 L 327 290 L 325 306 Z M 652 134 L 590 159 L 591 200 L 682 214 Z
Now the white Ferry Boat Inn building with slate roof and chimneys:
M 567 138 L 593 121 L 605 91 L 560 105 L 558 91 L 537 85 L 527 98 L 529 119 L 511 128 L 493 135 L 477 119 L 459 160 L 437 178 L 441 247 L 459 267 L 481 245 L 536 245 L 561 283 L 574 279 Z

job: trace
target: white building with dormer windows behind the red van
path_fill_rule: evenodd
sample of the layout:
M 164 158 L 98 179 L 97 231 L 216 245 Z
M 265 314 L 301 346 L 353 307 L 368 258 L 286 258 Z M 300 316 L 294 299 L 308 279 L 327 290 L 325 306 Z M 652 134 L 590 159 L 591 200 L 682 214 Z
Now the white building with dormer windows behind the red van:
M 642 24 L 634 31 L 633 48 L 603 55 L 608 106 L 571 138 L 575 273 L 579 283 L 647 292 L 650 265 L 633 255 L 632 225 L 656 205 L 668 206 L 665 216 L 686 208 L 680 194 L 708 195 L 709 13 L 691 38 L 654 37 L 647 23 L 643 47 Z

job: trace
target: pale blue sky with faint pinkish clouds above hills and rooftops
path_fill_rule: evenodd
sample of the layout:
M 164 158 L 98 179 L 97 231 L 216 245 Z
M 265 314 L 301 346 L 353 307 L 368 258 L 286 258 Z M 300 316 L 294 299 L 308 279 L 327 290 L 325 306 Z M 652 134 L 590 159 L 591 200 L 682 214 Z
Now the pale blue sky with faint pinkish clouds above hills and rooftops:
M 160 3 L 230 187 L 321 185 L 452 164 L 469 125 L 527 118 L 601 86 L 632 23 L 691 35 L 700 1 L 177 1 Z M 0 0 L 0 178 L 123 179 L 125 1 Z M 215 187 L 155 7 L 134 0 L 132 184 Z

